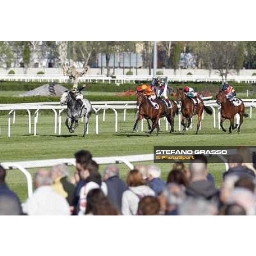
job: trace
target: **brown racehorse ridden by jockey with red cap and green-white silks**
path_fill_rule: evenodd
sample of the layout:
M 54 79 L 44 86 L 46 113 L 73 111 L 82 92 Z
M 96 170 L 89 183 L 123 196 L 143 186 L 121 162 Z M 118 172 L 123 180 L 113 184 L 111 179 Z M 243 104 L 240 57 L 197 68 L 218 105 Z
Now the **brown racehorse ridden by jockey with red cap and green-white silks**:
M 206 107 L 204 105 L 204 102 L 202 99 L 200 99 L 200 102 L 195 105 L 192 99 L 189 99 L 186 97 L 183 88 L 179 88 L 176 93 L 177 101 L 181 102 L 181 124 L 183 125 L 183 132 L 186 131 L 186 128 L 189 128 L 191 125 L 191 118 L 194 115 L 198 116 L 198 123 L 195 134 L 198 134 L 198 130 L 200 127 L 200 122 L 202 120 L 202 115 L 204 110 L 209 114 L 212 115 L 212 110 L 209 107 Z M 184 119 L 186 119 L 186 123 L 184 123 Z

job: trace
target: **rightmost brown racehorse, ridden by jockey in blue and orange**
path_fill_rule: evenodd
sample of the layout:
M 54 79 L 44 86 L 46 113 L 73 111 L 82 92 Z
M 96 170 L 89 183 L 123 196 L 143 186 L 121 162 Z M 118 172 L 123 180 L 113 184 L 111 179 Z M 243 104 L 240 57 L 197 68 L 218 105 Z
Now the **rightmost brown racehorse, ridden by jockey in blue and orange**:
M 241 100 L 241 99 L 240 99 Z M 243 123 L 243 118 L 244 116 L 247 117 L 248 114 L 244 113 L 244 102 L 241 101 L 241 104 L 239 106 L 234 106 L 232 102 L 230 102 L 227 98 L 226 95 L 222 90 L 220 90 L 217 95 L 216 95 L 216 102 L 218 105 L 221 105 L 221 129 L 222 131 L 226 132 L 227 130 L 223 127 L 223 122 L 226 119 L 230 120 L 230 127 L 229 127 L 229 133 L 232 133 L 232 129 L 236 129 L 237 127 L 237 132 L 240 133 L 241 130 L 241 124 Z M 240 116 L 240 122 L 239 125 L 234 125 L 234 117 L 236 114 L 239 114 Z

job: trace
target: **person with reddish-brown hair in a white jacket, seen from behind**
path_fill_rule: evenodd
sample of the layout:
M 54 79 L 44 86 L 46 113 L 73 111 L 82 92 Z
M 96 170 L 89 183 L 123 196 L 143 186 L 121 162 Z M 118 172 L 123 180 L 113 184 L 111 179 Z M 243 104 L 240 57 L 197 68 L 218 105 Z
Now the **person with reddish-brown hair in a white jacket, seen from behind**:
M 127 176 L 129 189 L 122 195 L 122 214 L 136 215 L 140 200 L 147 196 L 155 196 L 154 190 L 148 187 L 138 170 L 132 170 Z

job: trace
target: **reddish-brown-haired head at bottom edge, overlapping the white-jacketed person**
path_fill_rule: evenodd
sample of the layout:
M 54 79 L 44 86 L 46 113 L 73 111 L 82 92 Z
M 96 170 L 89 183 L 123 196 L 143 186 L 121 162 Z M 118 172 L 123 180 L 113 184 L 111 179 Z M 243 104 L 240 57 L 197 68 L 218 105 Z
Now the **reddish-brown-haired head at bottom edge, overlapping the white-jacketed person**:
M 140 200 L 138 215 L 157 215 L 160 211 L 160 203 L 154 196 L 148 195 Z

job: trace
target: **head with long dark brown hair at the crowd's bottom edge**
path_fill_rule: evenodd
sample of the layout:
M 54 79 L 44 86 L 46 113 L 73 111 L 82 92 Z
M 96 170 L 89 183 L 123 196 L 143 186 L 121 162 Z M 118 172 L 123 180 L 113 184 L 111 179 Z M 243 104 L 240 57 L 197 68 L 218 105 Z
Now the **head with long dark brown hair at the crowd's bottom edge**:
M 92 189 L 87 195 L 85 214 L 118 215 L 119 213 L 101 189 Z

